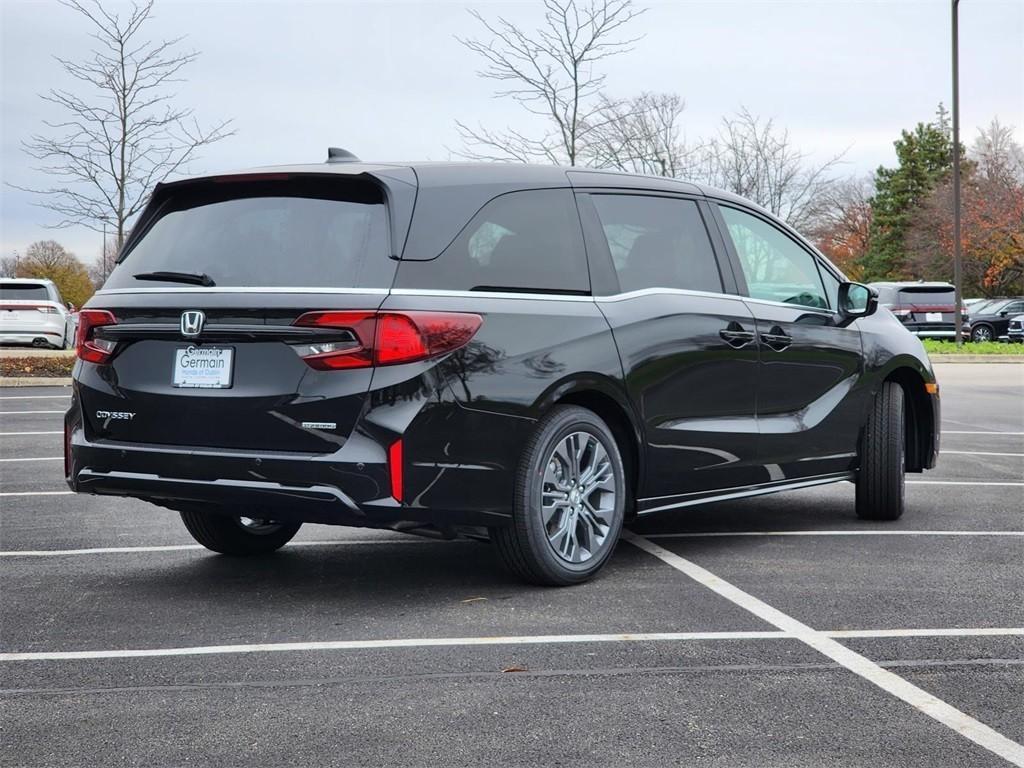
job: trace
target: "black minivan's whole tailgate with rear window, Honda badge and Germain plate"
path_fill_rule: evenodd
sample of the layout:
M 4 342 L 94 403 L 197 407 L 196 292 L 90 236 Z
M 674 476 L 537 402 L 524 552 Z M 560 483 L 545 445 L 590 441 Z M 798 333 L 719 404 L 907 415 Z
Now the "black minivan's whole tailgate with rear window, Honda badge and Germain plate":
M 90 438 L 336 451 L 372 369 L 357 354 L 323 358 L 372 342 L 362 313 L 380 306 L 396 263 L 387 208 L 380 184 L 342 175 L 159 190 L 84 312 L 110 349 L 101 365 L 79 364 Z M 330 322 L 310 314 L 325 311 Z

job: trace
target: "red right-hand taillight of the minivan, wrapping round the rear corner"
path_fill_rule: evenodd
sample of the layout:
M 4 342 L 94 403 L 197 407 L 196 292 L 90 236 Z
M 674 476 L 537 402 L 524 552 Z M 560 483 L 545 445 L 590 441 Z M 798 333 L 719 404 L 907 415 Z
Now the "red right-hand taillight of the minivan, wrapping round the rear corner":
M 306 312 L 296 326 L 337 329 L 348 338 L 293 348 L 319 371 L 395 366 L 452 352 L 467 344 L 481 323 L 469 312 Z

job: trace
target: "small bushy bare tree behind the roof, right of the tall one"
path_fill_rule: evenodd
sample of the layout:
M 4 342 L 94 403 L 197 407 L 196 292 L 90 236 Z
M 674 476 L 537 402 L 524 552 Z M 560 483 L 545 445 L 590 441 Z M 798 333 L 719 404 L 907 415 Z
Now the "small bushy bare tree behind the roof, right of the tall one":
M 682 137 L 686 102 L 676 93 L 641 93 L 601 99 L 590 118 L 587 160 L 598 168 L 681 177 L 694 167 L 694 151 Z

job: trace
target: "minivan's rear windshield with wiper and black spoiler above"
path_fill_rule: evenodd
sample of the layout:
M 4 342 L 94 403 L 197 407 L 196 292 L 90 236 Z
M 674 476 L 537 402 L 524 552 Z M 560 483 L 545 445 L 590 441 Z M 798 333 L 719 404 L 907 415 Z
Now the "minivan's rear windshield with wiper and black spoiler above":
M 369 181 L 203 182 L 142 225 L 104 288 L 188 285 L 136 276 L 161 271 L 257 288 L 390 288 L 394 274 L 383 193 Z

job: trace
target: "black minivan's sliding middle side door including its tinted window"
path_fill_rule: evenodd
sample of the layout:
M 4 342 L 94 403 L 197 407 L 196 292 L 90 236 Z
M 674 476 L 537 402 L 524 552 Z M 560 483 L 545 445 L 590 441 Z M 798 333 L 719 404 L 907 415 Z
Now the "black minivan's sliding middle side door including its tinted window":
M 757 477 L 754 317 L 724 293 L 705 204 L 609 190 L 579 200 L 598 306 L 643 419 L 640 509 L 750 483 Z

